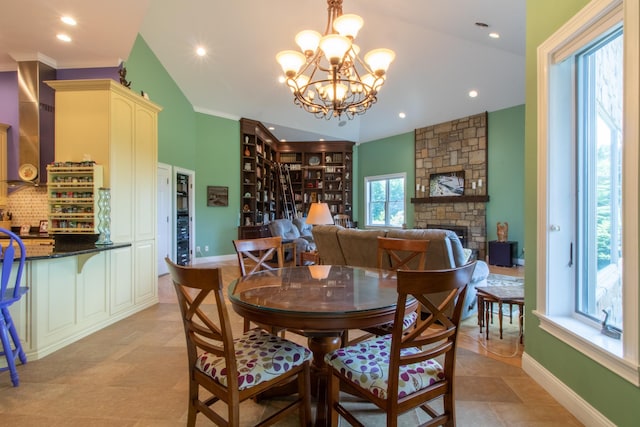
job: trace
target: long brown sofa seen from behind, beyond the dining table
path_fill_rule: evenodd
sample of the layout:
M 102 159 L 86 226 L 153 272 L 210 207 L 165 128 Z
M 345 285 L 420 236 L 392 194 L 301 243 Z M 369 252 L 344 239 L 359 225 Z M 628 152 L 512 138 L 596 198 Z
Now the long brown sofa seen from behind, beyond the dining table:
M 396 239 L 429 240 L 427 270 L 455 268 L 466 264 L 471 251 L 462 247 L 460 239 L 450 230 L 440 229 L 376 229 L 361 230 L 337 225 L 316 225 L 312 234 L 320 262 L 327 265 L 352 265 L 376 268 L 378 263 L 378 236 Z M 417 260 L 415 260 L 417 262 Z M 389 268 L 388 259 L 383 260 L 383 268 Z M 476 287 L 487 285 L 489 267 L 484 261 L 477 261 L 471 283 L 467 289 L 462 318 L 477 313 Z

